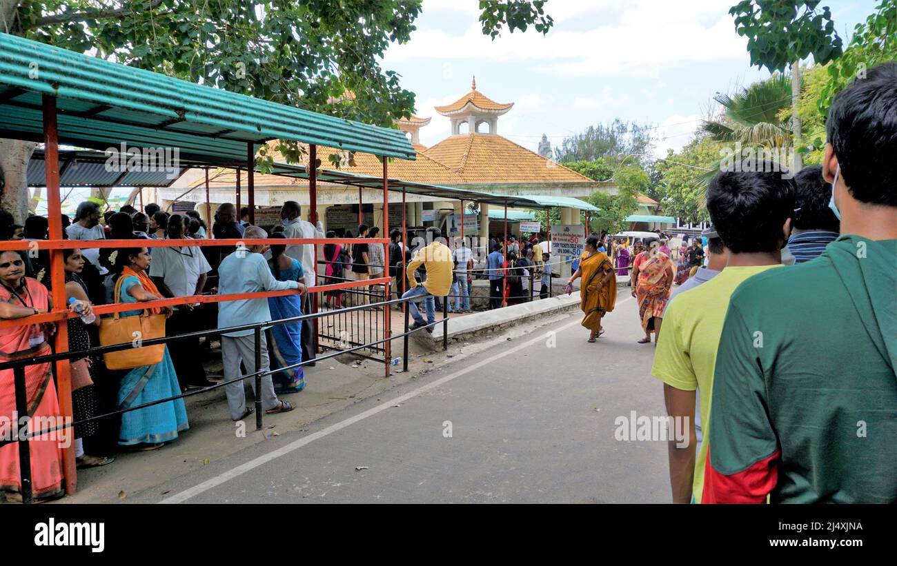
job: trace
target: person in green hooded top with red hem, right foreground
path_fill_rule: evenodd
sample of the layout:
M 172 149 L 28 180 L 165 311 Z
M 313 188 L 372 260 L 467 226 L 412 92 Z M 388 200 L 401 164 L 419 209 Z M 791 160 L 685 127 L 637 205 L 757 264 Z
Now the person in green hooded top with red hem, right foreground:
M 733 294 L 704 502 L 897 502 L 897 63 L 841 91 L 827 128 L 840 236 Z

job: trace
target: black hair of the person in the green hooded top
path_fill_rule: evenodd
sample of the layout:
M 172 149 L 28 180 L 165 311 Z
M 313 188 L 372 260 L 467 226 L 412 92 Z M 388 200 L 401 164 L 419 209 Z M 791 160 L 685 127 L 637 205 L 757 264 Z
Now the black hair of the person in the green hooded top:
M 869 69 L 841 90 L 826 129 L 850 194 L 897 206 L 897 62 Z

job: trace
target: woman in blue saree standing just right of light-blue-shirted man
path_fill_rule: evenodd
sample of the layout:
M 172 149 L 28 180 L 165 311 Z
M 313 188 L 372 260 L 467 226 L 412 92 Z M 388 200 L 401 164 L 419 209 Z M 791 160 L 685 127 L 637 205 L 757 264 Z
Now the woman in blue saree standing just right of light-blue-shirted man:
M 285 238 L 283 234 L 276 233 L 270 238 Z M 271 246 L 271 259 L 268 265 L 278 281 L 302 282 L 302 264 L 283 253 L 285 245 Z M 268 310 L 271 311 L 271 320 L 277 321 L 285 318 L 299 316 L 302 313 L 302 299 L 299 295 L 269 296 Z M 302 361 L 302 324 L 304 321 L 286 322 L 275 324 L 268 332 L 268 356 L 271 359 L 271 369 L 276 370 L 299 364 Z M 305 372 L 302 366 L 282 370 L 271 376 L 274 381 L 274 391 L 278 395 L 296 393 L 305 387 Z

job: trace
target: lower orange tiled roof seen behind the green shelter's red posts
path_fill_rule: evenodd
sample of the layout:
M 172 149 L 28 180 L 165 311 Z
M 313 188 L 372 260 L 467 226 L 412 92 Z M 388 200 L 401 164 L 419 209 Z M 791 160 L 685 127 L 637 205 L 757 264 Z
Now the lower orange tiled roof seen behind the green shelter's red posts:
M 318 147 L 318 159 L 321 160 L 321 168 L 335 168 L 328 159 L 328 156 L 332 154 L 340 155 L 341 151 L 333 148 Z M 303 158 L 302 165 L 308 165 L 308 154 L 303 156 Z M 279 153 L 274 152 L 274 161 L 283 162 L 285 159 L 283 159 Z M 376 156 L 370 155 L 370 153 L 356 153 L 353 157 L 353 162 L 354 166 L 345 164 L 342 167 L 339 167 L 339 170 L 345 171 L 346 173 L 354 173 L 356 175 L 383 175 L 383 163 L 380 162 Z M 465 182 L 461 176 L 457 175 L 457 173 L 420 152 L 417 154 L 417 159 L 414 161 L 408 159 L 393 159 L 390 161 L 388 163 L 388 174 L 394 179 L 414 181 L 416 183 L 461 184 Z M 213 171 L 209 177 L 209 186 L 212 188 L 216 186 L 232 187 L 236 183 L 237 173 L 232 169 L 217 169 Z M 240 184 L 242 190 L 245 191 L 246 171 L 241 173 Z M 308 181 L 288 176 L 256 174 L 254 184 L 256 186 L 307 185 Z M 200 185 L 205 185 L 205 177 L 194 184 L 190 184 L 190 187 Z

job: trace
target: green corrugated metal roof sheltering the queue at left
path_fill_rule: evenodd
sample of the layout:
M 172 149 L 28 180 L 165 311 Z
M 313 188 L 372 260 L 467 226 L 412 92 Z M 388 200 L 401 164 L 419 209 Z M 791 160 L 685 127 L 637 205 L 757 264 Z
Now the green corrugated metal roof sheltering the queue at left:
M 247 143 L 317 143 L 415 159 L 405 134 L 214 89 L 0 33 L 0 137 L 42 141 L 41 95 L 57 97 L 60 142 L 105 150 L 178 147 L 187 159 L 246 160 Z

